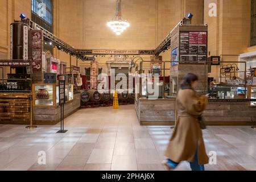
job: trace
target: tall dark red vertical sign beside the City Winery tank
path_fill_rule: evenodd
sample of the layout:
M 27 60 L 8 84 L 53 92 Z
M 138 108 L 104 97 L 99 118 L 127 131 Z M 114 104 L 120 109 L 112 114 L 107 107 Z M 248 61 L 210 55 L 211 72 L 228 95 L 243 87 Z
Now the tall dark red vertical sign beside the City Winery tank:
M 30 31 L 31 60 L 34 73 L 42 72 L 43 33 L 41 30 Z

